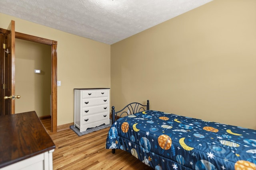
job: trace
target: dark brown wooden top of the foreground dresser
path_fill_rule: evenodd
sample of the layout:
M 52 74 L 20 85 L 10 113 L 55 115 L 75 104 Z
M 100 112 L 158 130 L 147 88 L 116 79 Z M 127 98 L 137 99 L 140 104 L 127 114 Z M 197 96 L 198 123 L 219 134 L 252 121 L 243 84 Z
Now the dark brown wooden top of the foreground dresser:
M 52 149 L 35 111 L 0 116 L 0 168 Z

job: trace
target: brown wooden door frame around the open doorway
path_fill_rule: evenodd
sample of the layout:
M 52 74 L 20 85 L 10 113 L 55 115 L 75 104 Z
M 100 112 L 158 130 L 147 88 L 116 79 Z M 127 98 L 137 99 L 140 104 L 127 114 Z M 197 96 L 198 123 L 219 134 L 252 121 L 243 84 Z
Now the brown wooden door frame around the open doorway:
M 7 29 L 0 28 L 1 33 L 7 33 Z M 52 132 L 57 132 L 57 41 L 36 37 L 24 33 L 15 32 L 15 38 L 51 45 L 52 47 L 52 85 L 51 85 L 51 111 Z

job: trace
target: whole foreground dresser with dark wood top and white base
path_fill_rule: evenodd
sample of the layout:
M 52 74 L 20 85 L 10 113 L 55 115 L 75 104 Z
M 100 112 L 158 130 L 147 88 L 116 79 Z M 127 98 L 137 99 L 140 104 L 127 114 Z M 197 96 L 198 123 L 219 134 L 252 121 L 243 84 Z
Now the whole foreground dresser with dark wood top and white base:
M 54 149 L 35 111 L 0 116 L 1 170 L 52 170 Z

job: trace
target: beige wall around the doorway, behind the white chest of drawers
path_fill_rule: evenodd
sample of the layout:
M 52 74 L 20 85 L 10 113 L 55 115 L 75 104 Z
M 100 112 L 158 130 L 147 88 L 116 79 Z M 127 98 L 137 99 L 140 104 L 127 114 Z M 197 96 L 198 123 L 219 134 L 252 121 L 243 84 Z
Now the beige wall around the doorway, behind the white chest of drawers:
M 58 41 L 57 125 L 74 122 L 74 88 L 110 88 L 110 45 L 0 13 L 0 27 Z

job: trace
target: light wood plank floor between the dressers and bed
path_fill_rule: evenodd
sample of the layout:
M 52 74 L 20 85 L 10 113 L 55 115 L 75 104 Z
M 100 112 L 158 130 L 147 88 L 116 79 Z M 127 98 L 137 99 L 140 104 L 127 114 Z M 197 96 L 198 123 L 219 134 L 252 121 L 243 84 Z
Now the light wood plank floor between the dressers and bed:
M 152 170 L 130 153 L 105 149 L 109 128 L 78 137 L 69 125 L 50 132 L 50 119 L 41 120 L 56 145 L 53 152 L 54 170 Z

